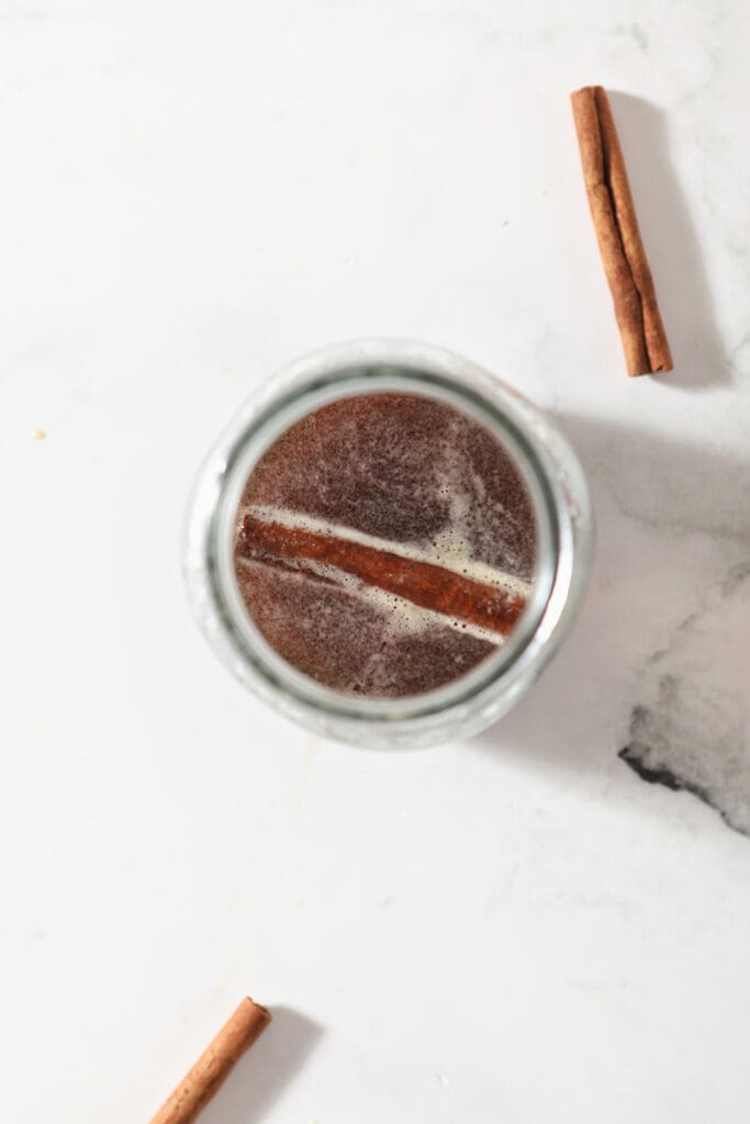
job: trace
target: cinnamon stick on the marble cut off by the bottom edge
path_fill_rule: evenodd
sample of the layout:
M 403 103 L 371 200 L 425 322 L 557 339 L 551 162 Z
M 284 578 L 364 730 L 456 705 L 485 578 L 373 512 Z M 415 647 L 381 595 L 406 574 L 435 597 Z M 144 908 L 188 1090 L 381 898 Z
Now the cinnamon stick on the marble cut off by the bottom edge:
M 243 999 L 151 1124 L 191 1124 L 270 1022 L 265 1007 Z

